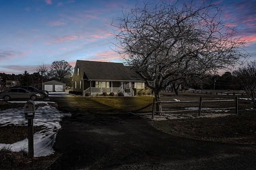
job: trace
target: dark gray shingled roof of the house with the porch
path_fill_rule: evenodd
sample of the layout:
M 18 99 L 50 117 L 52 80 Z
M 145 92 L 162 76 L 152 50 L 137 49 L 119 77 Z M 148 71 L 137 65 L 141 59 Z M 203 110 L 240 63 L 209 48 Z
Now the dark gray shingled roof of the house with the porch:
M 130 71 L 130 69 L 122 63 L 77 60 L 76 66 L 79 67 L 80 75 L 82 75 L 84 79 L 143 81 L 138 74 Z

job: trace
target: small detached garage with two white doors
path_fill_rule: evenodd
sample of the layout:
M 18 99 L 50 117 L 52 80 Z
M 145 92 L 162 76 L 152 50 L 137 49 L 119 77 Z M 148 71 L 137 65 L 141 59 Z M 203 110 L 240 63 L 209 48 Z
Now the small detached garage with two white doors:
M 48 92 L 65 92 L 66 83 L 52 80 L 50 82 L 43 83 L 43 90 Z

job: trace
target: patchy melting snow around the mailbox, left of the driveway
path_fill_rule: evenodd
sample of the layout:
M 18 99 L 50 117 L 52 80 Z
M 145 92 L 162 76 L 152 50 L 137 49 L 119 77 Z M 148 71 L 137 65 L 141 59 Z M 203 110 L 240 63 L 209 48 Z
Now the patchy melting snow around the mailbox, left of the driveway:
M 18 103 L 23 102 L 19 101 Z M 24 103 L 26 103 L 26 101 Z M 35 101 L 35 104 L 46 104 L 46 106 L 36 108 L 35 118 L 33 119 L 34 126 L 43 125 L 45 127 L 34 134 L 34 157 L 48 156 L 54 153 L 52 147 L 56 139 L 57 131 L 61 128 L 60 121 L 64 116 L 71 116 L 71 113 L 62 113 L 48 103 L 49 102 Z M 28 120 L 26 120 L 24 116 L 24 108 L 0 111 L 0 120 L 1 124 L 4 124 L 2 126 L 9 124 L 28 125 Z M 28 139 L 13 144 L 0 143 L 0 148 L 2 147 L 11 148 L 12 151 L 20 151 L 21 149 L 28 150 Z

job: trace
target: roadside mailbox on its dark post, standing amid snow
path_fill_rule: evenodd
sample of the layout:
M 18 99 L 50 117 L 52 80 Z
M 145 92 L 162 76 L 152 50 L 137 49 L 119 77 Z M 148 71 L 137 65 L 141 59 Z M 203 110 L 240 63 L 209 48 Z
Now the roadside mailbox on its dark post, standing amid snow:
M 34 157 L 34 127 L 33 119 L 35 117 L 35 102 L 28 100 L 24 105 L 25 119 L 28 119 L 28 157 Z

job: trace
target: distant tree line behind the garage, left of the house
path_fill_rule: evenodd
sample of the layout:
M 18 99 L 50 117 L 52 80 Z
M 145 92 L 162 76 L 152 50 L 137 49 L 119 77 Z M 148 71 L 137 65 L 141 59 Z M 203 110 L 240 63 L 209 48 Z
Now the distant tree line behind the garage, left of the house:
M 72 66 L 64 60 L 54 61 L 50 66 L 42 63 L 35 70 L 32 74 L 27 70 L 18 75 L 0 73 L 0 85 L 5 87 L 6 80 L 18 80 L 22 86 L 39 85 L 40 88 L 43 82 L 57 80 L 66 83 L 66 86 L 72 86 Z

